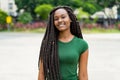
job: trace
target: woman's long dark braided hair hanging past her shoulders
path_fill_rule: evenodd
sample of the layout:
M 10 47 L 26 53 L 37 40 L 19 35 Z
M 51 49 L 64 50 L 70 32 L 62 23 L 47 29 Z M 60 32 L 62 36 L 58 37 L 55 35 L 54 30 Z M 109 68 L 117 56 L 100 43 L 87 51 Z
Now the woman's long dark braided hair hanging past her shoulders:
M 70 7 L 58 6 L 50 12 L 47 29 L 41 44 L 38 62 L 38 66 L 40 60 L 43 62 L 45 80 L 61 80 L 57 45 L 59 31 L 54 25 L 54 12 L 60 8 L 63 8 L 67 11 L 72 21 L 70 24 L 71 33 L 79 38 L 83 38 L 77 18 L 73 14 L 73 10 Z

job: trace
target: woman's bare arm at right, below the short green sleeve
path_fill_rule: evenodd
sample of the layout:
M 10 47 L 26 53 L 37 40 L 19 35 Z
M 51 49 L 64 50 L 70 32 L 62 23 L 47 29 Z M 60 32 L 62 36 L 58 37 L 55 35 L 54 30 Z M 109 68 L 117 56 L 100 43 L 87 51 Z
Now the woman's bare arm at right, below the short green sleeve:
M 88 64 L 88 49 L 83 52 L 79 59 L 79 79 L 80 80 L 87 80 L 87 64 Z M 85 78 L 85 79 L 81 79 Z

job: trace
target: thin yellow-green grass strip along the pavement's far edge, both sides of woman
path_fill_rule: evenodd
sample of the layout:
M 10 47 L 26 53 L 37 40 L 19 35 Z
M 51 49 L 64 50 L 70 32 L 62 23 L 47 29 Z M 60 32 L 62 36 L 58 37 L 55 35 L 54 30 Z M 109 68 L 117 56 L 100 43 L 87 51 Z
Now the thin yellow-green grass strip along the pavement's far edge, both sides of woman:
M 46 28 L 39 28 L 39 29 L 14 29 L 10 30 L 9 32 L 26 32 L 26 33 L 44 33 Z M 2 30 L 0 32 L 8 32 L 8 30 Z M 83 33 L 120 33 L 119 29 L 104 29 L 104 28 L 84 28 L 82 29 Z

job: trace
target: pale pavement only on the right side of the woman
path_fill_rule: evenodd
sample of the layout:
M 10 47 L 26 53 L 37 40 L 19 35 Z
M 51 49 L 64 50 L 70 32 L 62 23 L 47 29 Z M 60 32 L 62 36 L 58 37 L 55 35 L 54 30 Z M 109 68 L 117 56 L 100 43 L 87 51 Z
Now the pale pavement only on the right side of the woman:
M 120 80 L 120 34 L 86 35 L 89 79 Z

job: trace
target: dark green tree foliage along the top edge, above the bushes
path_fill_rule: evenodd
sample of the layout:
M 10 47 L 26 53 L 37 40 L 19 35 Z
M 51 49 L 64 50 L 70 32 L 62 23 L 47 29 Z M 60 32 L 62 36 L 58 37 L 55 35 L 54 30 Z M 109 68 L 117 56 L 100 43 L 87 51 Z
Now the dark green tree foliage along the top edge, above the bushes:
M 15 0 L 18 11 L 24 9 L 36 17 L 34 9 L 38 5 L 50 4 L 53 7 L 59 5 L 71 6 L 73 9 L 82 7 L 84 11 L 93 14 L 105 7 L 112 7 L 115 4 L 120 5 L 120 0 Z

